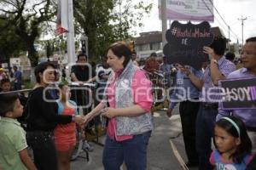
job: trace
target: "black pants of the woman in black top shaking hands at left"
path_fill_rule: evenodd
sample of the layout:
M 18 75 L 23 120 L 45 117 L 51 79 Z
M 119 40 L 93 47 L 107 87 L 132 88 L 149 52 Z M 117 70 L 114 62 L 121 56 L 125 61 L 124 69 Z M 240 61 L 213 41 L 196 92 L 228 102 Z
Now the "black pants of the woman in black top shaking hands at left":
M 38 170 L 57 170 L 58 160 L 52 133 L 28 132 L 26 137 L 32 147 L 34 163 Z

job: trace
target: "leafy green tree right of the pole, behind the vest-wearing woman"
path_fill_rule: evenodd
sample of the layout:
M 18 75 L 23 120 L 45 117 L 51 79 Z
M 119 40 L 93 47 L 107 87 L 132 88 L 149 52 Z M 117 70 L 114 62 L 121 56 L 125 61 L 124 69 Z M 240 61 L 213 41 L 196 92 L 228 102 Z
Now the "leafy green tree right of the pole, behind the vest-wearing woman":
M 140 20 L 152 4 L 131 0 L 74 0 L 74 17 L 88 37 L 89 58 L 98 60 L 109 44 L 131 39 L 131 26 L 142 26 Z M 77 28 L 76 30 L 79 30 Z

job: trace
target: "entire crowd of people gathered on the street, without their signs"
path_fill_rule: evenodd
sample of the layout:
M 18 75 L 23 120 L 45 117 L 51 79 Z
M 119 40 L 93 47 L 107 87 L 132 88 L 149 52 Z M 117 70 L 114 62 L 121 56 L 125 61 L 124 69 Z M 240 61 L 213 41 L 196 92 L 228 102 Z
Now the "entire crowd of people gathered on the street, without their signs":
M 166 114 L 172 116 L 179 103 L 188 167 L 256 169 L 255 108 L 227 111 L 218 103 L 220 80 L 256 77 L 256 37 L 248 38 L 242 48 L 242 67 L 238 70 L 233 55 L 224 55 L 225 45 L 224 38 L 215 37 L 212 44 L 203 48 L 209 62 L 203 63 L 201 70 L 180 63 L 169 65 L 166 57 L 159 64 L 155 54 L 142 67 L 135 61 L 136 52 L 131 52 L 125 42 L 115 42 L 107 49 L 97 71 L 87 64 L 85 54 L 79 54 L 79 65 L 71 69 L 71 79 L 79 86 L 84 82 L 98 82 L 94 108 L 89 105 L 90 90 L 81 89 L 72 94 L 67 84 L 57 87 L 59 100 L 56 100 L 52 93 L 55 65 L 39 64 L 34 71 L 37 83 L 24 111 L 18 95 L 0 94 L 0 135 L 6 137 L 0 139 L 3 153 L 0 169 L 70 169 L 75 129 L 83 133 L 92 120 L 101 122 L 100 117 L 107 129 L 102 154 L 104 169 L 119 169 L 123 162 L 127 169 L 147 169 L 147 147 L 154 130 L 150 111 L 154 103 L 154 81 L 150 75 L 155 71 L 175 77 L 174 81 L 166 80 L 165 88 L 173 89 L 167 94 L 170 105 Z M 19 80 L 15 82 L 20 88 Z M 10 82 L 3 78 L 2 90 L 9 87 Z M 83 109 L 83 115 L 78 114 L 79 105 L 89 105 Z M 26 114 L 26 133 L 16 120 L 22 113 Z M 28 144 L 33 150 L 33 161 L 27 154 Z

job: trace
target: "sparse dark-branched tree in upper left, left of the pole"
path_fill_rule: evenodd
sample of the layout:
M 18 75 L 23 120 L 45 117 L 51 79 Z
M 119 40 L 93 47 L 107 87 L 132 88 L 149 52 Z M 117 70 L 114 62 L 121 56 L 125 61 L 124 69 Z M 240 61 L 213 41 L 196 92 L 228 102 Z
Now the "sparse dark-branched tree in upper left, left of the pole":
M 50 0 L 1 0 L 0 12 L 5 14 L 7 25 L 1 31 L 15 27 L 15 34 L 22 41 L 26 42 L 28 58 L 32 65 L 38 64 L 38 52 L 34 47 L 41 32 L 44 30 L 44 23 L 55 15 L 55 8 L 52 8 Z

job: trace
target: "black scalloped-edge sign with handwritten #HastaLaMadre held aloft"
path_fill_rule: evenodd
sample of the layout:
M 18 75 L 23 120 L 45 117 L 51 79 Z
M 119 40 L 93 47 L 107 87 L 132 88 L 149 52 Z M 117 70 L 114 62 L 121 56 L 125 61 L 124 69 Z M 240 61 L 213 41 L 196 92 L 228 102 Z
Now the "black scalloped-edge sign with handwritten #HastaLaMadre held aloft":
M 181 24 L 175 20 L 166 31 L 166 40 L 163 51 L 169 64 L 190 65 L 199 70 L 202 63 L 209 60 L 207 54 L 203 53 L 203 47 L 213 40 L 207 21 L 194 25 L 190 22 Z

